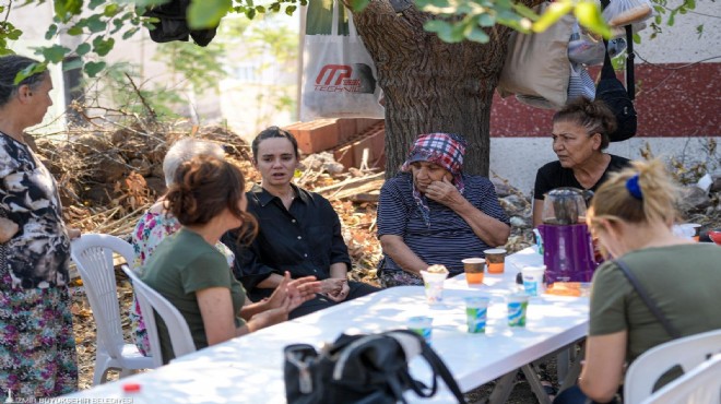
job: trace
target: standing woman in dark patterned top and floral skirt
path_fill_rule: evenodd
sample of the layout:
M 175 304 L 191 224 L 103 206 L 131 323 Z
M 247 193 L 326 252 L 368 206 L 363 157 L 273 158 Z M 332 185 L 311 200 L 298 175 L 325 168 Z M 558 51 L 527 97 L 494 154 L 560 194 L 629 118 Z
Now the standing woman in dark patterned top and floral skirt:
M 36 62 L 0 57 L 0 400 L 78 390 L 68 293 L 70 239 L 57 185 L 25 143 L 52 105 L 47 71 L 15 84 Z

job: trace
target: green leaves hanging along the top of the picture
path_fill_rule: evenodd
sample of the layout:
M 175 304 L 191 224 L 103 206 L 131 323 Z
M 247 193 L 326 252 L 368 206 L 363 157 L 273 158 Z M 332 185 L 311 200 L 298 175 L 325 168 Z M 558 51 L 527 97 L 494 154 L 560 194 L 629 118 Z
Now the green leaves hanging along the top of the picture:
M 24 5 L 37 5 L 46 1 L 25 0 Z M 58 63 L 68 57 L 79 56 L 83 71 L 94 76 L 104 68 L 102 58 L 113 50 L 116 38 L 129 39 L 141 28 L 153 27 L 153 24 L 158 22 L 157 19 L 145 17 L 143 14 L 149 8 L 168 1 L 54 0 L 54 22 L 47 28 L 45 38 L 51 40 L 58 35 L 67 34 L 81 37 L 82 40 L 75 49 L 60 45 L 37 48 L 35 52 L 43 58 L 43 63 L 35 68 L 43 70 L 47 63 Z M 362 11 L 369 1 L 347 0 L 347 3 L 354 10 Z M 673 25 L 677 14 L 686 14 L 696 8 L 696 0 L 682 0 L 676 7 L 670 7 L 669 0 L 652 1 L 657 16 L 651 24 L 651 37 L 661 32 L 664 17 L 667 25 Z M 262 4 L 256 3 L 256 0 L 191 0 L 188 23 L 192 28 L 214 27 L 228 13 L 239 13 L 250 20 L 265 13 L 282 12 L 292 15 L 298 5 L 307 3 L 308 0 L 267 0 Z M 426 22 L 425 28 L 450 43 L 465 39 L 487 43 L 490 29 L 496 24 L 525 33 L 541 32 L 569 12 L 590 31 L 610 36 L 610 29 L 594 0 L 556 0 L 543 15 L 537 15 L 517 0 L 416 0 L 415 4 L 421 10 L 437 15 Z M 0 5 L 0 13 L 3 12 L 4 21 L 0 21 L 0 55 L 11 54 L 8 41 L 16 40 L 22 35 L 22 31 L 8 20 L 10 7 Z M 702 35 L 702 25 L 697 27 L 697 33 Z M 22 79 L 23 76 L 19 76 L 16 80 Z

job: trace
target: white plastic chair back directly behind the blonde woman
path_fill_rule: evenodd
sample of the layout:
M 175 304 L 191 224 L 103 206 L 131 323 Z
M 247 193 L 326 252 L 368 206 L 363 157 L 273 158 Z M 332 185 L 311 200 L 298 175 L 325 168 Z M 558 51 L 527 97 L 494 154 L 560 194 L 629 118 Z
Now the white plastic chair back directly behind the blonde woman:
M 681 366 L 684 372 L 721 353 L 721 330 L 685 336 L 654 346 L 639 356 L 626 371 L 624 401 L 640 403 L 651 396 L 663 373 Z

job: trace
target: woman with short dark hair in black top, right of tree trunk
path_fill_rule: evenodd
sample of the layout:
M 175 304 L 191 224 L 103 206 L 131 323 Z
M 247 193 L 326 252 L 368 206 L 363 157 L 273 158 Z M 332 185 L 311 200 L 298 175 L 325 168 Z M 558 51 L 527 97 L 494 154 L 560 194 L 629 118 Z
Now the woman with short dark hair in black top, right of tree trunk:
M 533 189 L 533 227 L 541 224 L 544 195 L 552 189 L 574 187 L 595 191 L 608 173 L 628 166 L 629 161 L 605 153 L 616 118 L 600 100 L 579 98 L 553 117 L 553 151 L 557 162 L 541 167 Z

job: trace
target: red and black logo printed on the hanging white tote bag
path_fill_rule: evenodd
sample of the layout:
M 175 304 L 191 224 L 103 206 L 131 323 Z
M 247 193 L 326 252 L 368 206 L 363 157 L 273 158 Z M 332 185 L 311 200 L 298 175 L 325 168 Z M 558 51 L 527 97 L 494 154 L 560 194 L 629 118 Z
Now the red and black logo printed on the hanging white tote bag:
M 315 90 L 373 94 L 376 92 L 376 78 L 373 76 L 373 69 L 365 63 L 326 64 L 316 76 Z

